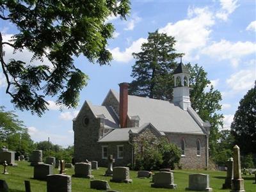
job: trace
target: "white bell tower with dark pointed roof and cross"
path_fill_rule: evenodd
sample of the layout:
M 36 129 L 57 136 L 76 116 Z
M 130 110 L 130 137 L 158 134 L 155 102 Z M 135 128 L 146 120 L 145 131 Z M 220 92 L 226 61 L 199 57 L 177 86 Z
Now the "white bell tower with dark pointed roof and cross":
M 191 107 L 189 99 L 189 70 L 182 64 L 180 57 L 180 64 L 173 72 L 174 88 L 173 88 L 173 103 L 179 105 L 183 110 Z

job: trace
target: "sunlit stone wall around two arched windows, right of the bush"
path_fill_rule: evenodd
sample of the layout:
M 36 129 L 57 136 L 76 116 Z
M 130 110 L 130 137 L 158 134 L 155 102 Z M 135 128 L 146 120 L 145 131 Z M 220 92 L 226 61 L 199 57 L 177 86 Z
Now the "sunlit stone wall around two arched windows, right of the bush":
M 185 156 L 180 159 L 182 169 L 204 169 L 206 167 L 206 136 L 196 134 L 166 133 L 170 143 L 181 148 L 181 140 L 185 140 Z M 200 156 L 196 155 L 196 140 L 200 140 Z

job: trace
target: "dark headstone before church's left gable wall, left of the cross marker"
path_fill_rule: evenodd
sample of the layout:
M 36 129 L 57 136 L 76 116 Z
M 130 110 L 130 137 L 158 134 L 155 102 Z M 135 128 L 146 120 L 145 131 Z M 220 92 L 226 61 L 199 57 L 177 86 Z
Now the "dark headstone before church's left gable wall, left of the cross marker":
M 76 163 L 75 164 L 75 175 L 74 177 L 84 177 L 93 179 L 92 175 L 92 164 L 90 163 Z

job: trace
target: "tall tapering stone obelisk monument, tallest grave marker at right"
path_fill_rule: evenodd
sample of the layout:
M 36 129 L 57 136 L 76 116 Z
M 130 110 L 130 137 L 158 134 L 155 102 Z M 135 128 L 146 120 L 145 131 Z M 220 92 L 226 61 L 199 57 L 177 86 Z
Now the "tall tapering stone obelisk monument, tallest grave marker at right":
M 232 179 L 231 192 L 243 192 L 244 191 L 244 180 L 241 177 L 241 164 L 240 164 L 240 148 L 235 145 L 233 147 L 234 154 L 234 175 Z

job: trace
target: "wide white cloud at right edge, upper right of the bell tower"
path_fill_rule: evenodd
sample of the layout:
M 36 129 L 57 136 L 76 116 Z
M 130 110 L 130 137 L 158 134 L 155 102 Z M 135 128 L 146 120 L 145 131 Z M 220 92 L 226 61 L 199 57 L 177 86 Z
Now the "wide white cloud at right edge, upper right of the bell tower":
M 234 67 L 239 65 L 239 61 L 243 56 L 247 56 L 256 52 L 256 44 L 253 42 L 229 42 L 221 40 L 214 42 L 202 49 L 202 54 L 209 55 L 218 60 L 230 60 Z

